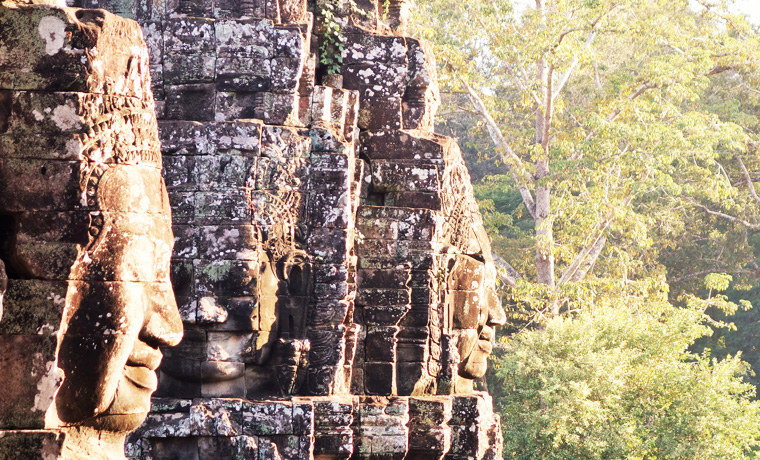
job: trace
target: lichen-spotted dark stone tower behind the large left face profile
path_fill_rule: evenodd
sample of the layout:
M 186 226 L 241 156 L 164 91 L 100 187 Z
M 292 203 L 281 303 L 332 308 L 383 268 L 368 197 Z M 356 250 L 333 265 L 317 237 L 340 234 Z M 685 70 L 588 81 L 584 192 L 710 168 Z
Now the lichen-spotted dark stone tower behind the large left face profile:
M 172 205 L 185 336 L 130 458 L 501 456 L 473 382 L 504 315 L 432 54 L 406 2 L 336 2 L 328 75 L 327 1 L 71 2 L 142 27 Z

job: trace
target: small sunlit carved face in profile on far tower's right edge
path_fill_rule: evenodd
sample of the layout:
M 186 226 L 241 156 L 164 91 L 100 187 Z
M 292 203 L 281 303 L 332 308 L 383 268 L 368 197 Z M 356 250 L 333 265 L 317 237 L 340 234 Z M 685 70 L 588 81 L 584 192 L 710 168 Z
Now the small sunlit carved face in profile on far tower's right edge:
M 462 254 L 454 256 L 449 266 L 447 298 L 451 324 L 459 330 L 459 375 L 478 379 L 488 367 L 494 327 L 506 322 L 495 290 L 496 271 L 492 264 Z

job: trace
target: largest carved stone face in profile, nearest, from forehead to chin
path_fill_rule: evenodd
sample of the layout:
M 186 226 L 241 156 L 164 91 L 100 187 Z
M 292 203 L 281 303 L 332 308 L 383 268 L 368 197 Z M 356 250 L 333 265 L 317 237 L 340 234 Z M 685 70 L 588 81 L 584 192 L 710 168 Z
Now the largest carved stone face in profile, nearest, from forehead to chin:
M 169 202 L 154 167 L 110 165 L 99 179 L 86 249 L 71 269 L 56 396 L 68 424 L 127 432 L 150 410 L 161 345 L 182 337 L 171 283 Z

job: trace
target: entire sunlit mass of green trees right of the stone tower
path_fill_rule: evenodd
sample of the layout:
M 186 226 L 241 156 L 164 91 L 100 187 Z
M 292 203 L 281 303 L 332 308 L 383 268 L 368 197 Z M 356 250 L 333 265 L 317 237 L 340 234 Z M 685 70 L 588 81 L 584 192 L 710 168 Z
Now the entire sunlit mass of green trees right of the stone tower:
M 724 0 L 417 14 L 443 130 L 490 159 L 476 193 L 510 297 L 489 380 L 505 458 L 753 458 L 739 350 L 760 363 L 760 30 Z

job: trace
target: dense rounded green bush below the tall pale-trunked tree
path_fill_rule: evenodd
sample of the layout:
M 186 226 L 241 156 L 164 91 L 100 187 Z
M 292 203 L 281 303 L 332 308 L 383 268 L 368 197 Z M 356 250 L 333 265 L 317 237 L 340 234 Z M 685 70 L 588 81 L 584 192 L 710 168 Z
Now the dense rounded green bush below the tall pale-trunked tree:
M 492 363 L 504 458 L 755 458 L 760 403 L 747 366 L 689 352 L 709 335 L 702 319 L 664 298 L 621 296 L 512 337 Z

